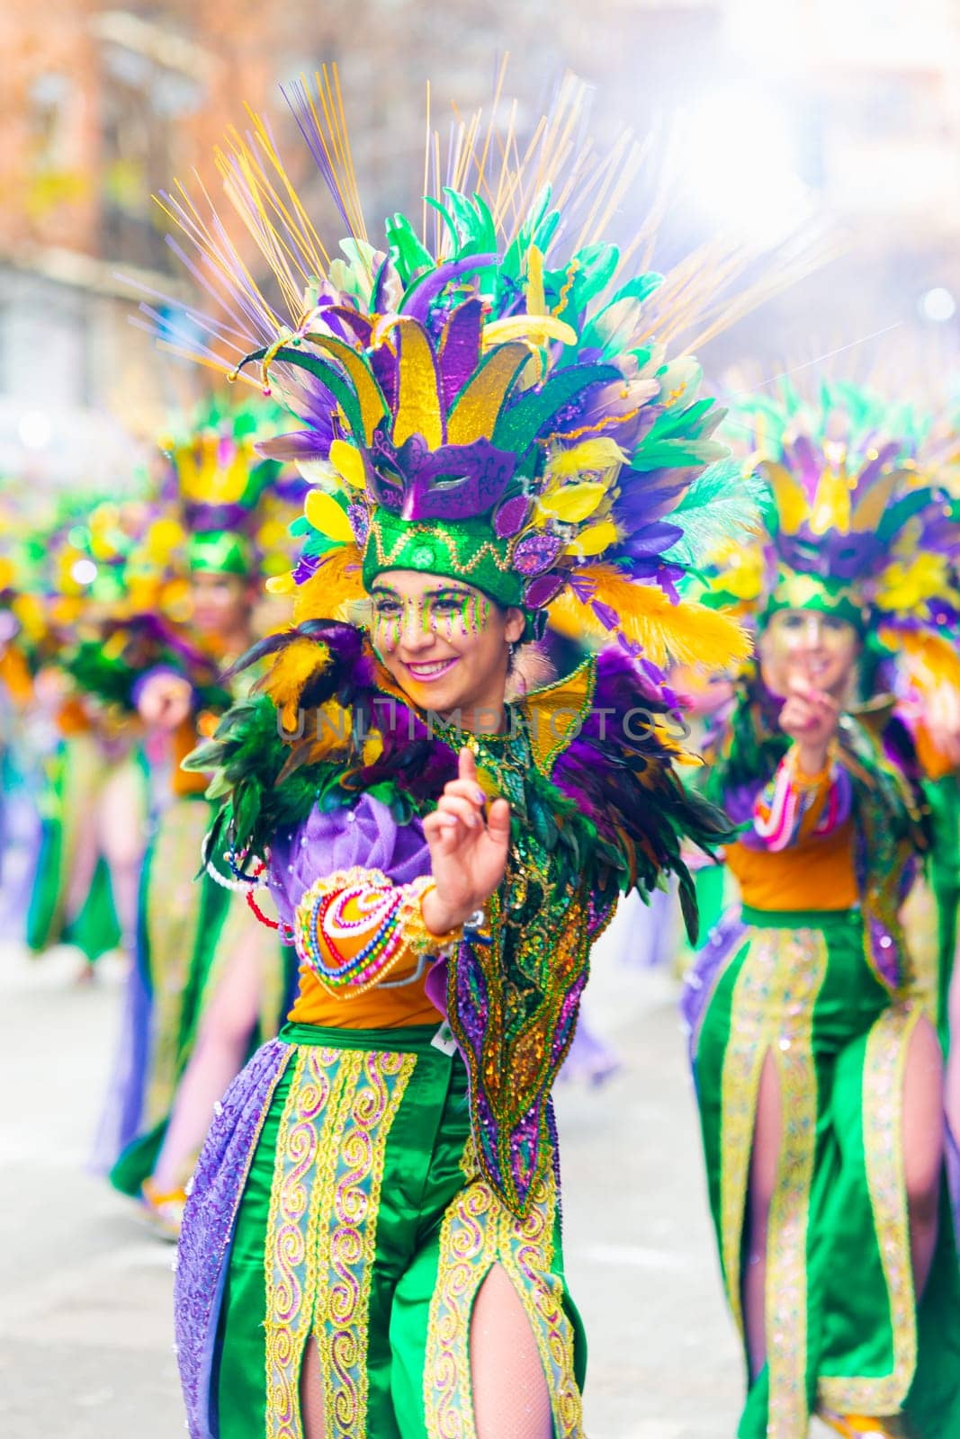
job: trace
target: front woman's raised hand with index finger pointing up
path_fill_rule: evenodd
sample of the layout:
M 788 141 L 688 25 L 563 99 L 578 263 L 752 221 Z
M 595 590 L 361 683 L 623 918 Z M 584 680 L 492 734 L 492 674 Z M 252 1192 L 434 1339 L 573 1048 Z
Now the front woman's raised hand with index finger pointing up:
M 498 799 L 485 813 L 486 796 L 476 783 L 476 761 L 461 750 L 459 774 L 445 786 L 423 820 L 436 889 L 423 896 L 423 921 L 433 934 L 463 924 L 504 878 L 510 849 L 510 804 Z

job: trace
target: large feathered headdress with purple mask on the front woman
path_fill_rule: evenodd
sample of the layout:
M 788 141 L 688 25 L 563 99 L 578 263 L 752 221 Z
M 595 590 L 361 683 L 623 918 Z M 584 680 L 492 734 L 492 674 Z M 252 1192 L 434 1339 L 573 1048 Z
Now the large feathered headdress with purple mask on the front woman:
M 374 249 L 335 72 L 318 76 L 318 98 L 302 83 L 286 99 L 347 227 L 343 259 L 256 119 L 217 160 L 281 304 L 206 196 L 161 203 L 193 253 L 174 249 L 226 312 L 194 357 L 255 374 L 302 422 L 258 446 L 312 486 L 299 563 L 275 581 L 299 590 L 298 617 L 343 613 L 379 571 L 410 568 L 521 606 L 528 636 L 566 606 L 655 662 L 741 656 L 738 626 L 675 587 L 701 543 L 744 518 L 738 471 L 714 437 L 721 412 L 695 360 L 665 353 L 669 332 L 715 327 L 711 268 L 630 273 L 592 239 L 633 177 L 629 142 L 602 163 L 577 148 L 570 88 L 522 158 L 512 134 L 484 138 L 475 119 L 456 134 L 448 184 L 438 141 L 422 233 L 394 214 Z

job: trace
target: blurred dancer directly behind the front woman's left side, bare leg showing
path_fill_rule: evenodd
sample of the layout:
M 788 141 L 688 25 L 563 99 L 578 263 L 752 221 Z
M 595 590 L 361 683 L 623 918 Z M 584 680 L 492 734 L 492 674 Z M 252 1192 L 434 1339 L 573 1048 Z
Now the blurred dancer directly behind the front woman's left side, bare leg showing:
M 125 1058 L 99 1148 L 101 1160 L 114 1151 L 115 1187 L 140 1199 L 171 1238 L 213 1107 L 253 1045 L 276 1033 L 291 980 L 276 934 L 252 922 L 245 895 L 232 892 L 216 856 L 197 881 L 212 817 L 207 780 L 180 768 L 236 698 L 236 686 L 233 694 L 223 689 L 219 672 L 256 637 L 253 607 L 269 573 L 258 541 L 276 538 L 265 509 L 281 473 L 256 455 L 258 433 L 269 427 L 249 410 L 213 406 L 189 435 L 168 443 L 177 517 L 158 522 L 187 531 L 181 563 L 190 625 L 184 633 L 164 626 L 170 643 L 131 686 L 148 732 L 166 743 Z

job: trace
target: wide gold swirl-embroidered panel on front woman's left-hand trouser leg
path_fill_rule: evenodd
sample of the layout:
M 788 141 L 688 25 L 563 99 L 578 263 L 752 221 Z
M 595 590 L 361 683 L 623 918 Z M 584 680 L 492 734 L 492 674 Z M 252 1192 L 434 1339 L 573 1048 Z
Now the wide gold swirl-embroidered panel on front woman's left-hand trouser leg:
M 383 1161 L 415 1065 L 415 1055 L 299 1048 L 266 1230 L 266 1439 L 302 1436 L 299 1371 L 311 1331 L 328 1439 L 366 1432 Z

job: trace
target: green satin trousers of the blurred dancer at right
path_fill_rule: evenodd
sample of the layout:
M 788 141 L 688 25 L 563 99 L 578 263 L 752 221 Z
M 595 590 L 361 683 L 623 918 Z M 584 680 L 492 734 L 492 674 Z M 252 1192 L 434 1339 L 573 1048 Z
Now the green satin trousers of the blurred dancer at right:
M 902 1179 L 902 1076 L 920 1006 L 894 1002 L 856 911 L 744 911 L 695 1035 L 710 1204 L 743 1334 L 747 1197 L 764 1061 L 782 1147 L 769 1217 L 767 1364 L 740 1439 L 802 1439 L 819 1404 L 960 1435 L 960 1272 L 946 1200 L 917 1305 Z

